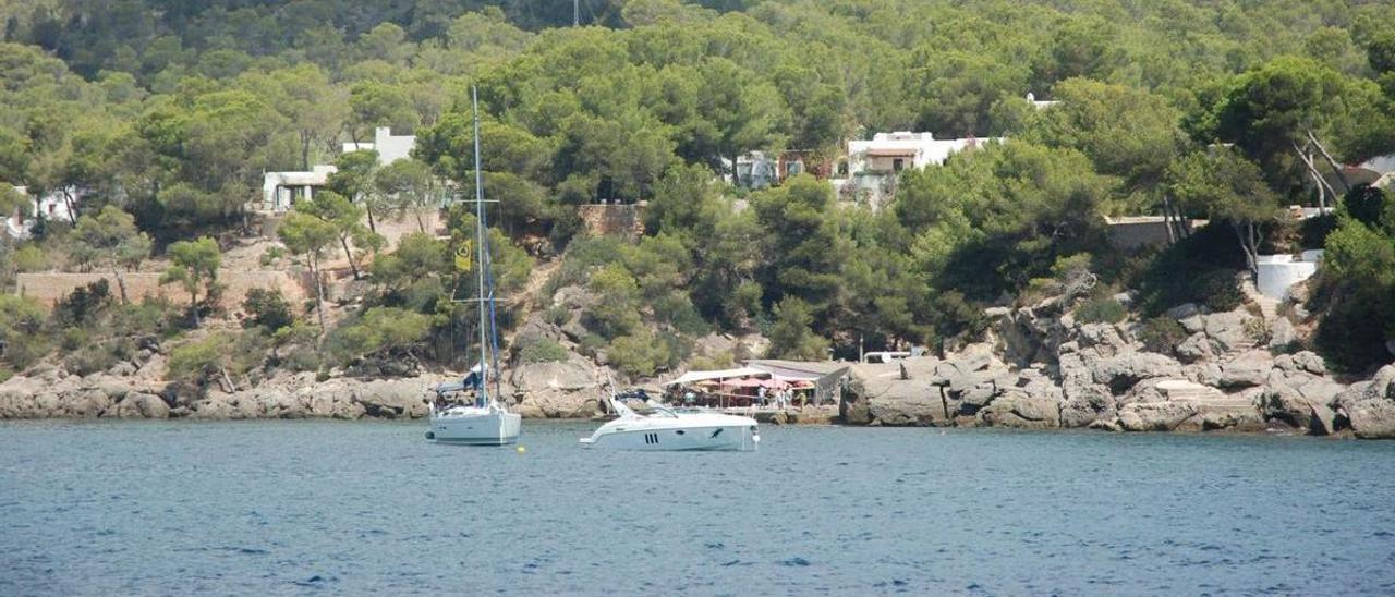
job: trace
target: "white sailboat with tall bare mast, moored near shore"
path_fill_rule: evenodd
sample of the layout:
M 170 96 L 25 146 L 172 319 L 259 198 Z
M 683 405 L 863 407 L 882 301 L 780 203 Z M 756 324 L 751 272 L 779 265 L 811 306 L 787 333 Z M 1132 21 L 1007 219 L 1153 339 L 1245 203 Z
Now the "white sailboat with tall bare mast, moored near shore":
M 499 402 L 499 333 L 494 317 L 494 271 L 490 264 L 484 180 L 480 172 L 480 103 L 473 86 L 470 102 L 474 112 L 474 245 L 480 276 L 478 296 L 472 301 L 477 303 L 480 314 L 480 358 L 459 382 L 435 388 L 437 399 L 431 403 L 427 439 L 438 444 L 506 445 L 518 441 L 523 417 L 511 413 Z M 445 396 L 455 393 L 472 395 L 473 400 L 448 403 Z

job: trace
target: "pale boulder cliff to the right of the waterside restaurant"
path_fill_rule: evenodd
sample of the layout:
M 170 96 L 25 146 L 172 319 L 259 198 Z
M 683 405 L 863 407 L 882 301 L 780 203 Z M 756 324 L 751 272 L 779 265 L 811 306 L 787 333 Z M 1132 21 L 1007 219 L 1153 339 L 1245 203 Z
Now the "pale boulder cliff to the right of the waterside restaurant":
M 1395 438 L 1395 365 L 1343 384 L 1292 346 L 1288 319 L 1240 308 L 1169 311 L 1187 336 L 1148 352 L 1140 324 L 1080 324 L 1052 301 L 996 310 L 989 343 L 947 358 L 864 364 L 847 423 L 1119 431 L 1296 430 Z M 1281 338 L 1282 336 L 1282 338 Z

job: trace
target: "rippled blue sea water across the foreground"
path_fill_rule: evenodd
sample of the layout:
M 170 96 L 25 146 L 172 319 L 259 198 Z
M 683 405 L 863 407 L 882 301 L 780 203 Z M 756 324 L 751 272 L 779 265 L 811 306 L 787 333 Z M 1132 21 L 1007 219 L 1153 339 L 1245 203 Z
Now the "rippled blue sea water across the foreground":
M 3 423 L 0 596 L 1395 593 L 1395 442 L 590 428 Z

